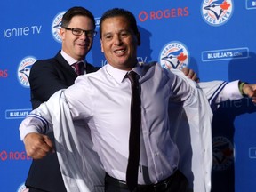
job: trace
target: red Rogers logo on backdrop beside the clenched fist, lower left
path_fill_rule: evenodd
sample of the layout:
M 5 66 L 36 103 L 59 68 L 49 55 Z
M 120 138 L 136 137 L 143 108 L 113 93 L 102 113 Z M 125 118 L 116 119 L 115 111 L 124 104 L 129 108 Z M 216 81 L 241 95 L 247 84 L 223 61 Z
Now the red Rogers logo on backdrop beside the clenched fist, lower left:
M 30 160 L 32 159 L 29 157 L 25 151 L 1 151 L 0 152 L 0 160 L 6 161 L 6 160 Z

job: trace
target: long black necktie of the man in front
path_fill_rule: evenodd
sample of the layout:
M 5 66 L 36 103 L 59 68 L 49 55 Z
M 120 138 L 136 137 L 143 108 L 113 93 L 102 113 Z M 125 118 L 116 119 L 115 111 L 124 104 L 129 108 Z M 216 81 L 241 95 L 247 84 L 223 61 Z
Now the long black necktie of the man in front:
M 127 74 L 132 84 L 131 101 L 131 130 L 129 139 L 129 158 L 126 170 L 126 183 L 131 191 L 136 189 L 138 184 L 138 170 L 140 161 L 140 87 L 137 74 L 131 71 Z

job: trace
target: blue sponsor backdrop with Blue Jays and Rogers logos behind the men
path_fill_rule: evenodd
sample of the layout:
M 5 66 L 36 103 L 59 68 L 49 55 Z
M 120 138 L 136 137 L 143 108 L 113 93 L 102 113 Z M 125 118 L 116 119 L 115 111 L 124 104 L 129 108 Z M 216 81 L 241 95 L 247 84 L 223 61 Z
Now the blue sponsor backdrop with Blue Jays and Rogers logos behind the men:
M 99 24 L 109 8 L 136 16 L 142 37 L 138 60 L 164 68 L 193 68 L 201 81 L 256 83 L 256 1 L 252 0 L 9 0 L 0 6 L 0 191 L 21 191 L 31 159 L 20 141 L 20 121 L 31 110 L 29 70 L 60 50 L 61 17 L 71 6 L 91 10 Z M 97 27 L 97 30 L 99 28 Z M 172 56 L 172 57 L 171 57 Z M 106 63 L 95 37 L 87 60 Z M 245 108 L 243 107 L 245 106 Z M 256 107 L 225 102 L 212 124 L 213 192 L 253 192 L 256 181 Z

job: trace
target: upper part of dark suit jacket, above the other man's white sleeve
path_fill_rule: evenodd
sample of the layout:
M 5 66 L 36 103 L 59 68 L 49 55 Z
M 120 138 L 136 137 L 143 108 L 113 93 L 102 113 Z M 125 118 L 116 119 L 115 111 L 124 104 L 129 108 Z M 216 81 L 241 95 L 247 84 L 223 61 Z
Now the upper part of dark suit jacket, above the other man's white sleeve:
M 97 69 L 86 63 L 86 73 L 95 72 Z M 75 70 L 60 52 L 54 58 L 37 60 L 29 75 L 32 108 L 37 108 L 48 100 L 54 92 L 74 84 L 76 77 Z

